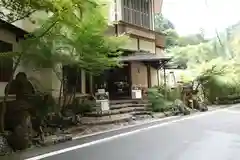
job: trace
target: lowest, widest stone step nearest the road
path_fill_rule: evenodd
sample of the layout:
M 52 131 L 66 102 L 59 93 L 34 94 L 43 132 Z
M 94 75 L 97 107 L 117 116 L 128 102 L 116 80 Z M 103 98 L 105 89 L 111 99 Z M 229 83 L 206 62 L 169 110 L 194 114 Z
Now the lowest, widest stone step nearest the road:
M 120 115 L 110 115 L 102 117 L 82 117 L 81 124 L 83 125 L 103 125 L 103 124 L 113 124 L 119 122 L 128 122 L 132 120 L 132 115 L 130 114 L 120 114 Z

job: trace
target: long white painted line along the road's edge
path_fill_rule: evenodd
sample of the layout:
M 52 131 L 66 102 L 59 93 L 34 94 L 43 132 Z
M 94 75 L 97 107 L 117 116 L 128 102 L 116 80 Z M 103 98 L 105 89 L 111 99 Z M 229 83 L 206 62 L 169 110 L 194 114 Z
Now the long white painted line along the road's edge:
M 230 107 L 230 108 L 235 108 L 235 107 L 236 106 L 233 106 L 233 107 Z M 163 127 L 163 126 L 167 126 L 167 125 L 174 124 L 174 123 L 177 123 L 177 122 L 190 120 L 190 119 L 194 119 L 194 118 L 199 118 L 199 117 L 202 117 L 202 116 L 214 114 L 214 113 L 225 111 L 225 110 L 227 110 L 227 109 L 219 109 L 219 110 L 213 110 L 213 111 L 206 112 L 206 113 L 191 115 L 191 116 L 187 116 L 185 118 L 172 120 L 172 121 L 169 121 L 169 122 L 164 122 L 164 123 L 149 126 L 149 127 L 146 127 L 146 128 L 141 128 L 141 129 L 137 129 L 137 130 L 134 130 L 134 131 L 125 132 L 125 133 L 121 133 L 121 134 L 114 135 L 114 136 L 111 136 L 111 137 L 106 137 L 106 138 L 99 139 L 99 140 L 96 140 L 96 141 L 84 143 L 84 144 L 81 144 L 81 145 L 76 145 L 76 146 L 73 146 L 73 147 L 64 148 L 64 149 L 53 151 L 53 152 L 50 152 L 50 153 L 38 155 L 38 156 L 28 158 L 28 159 L 25 159 L 25 160 L 40 160 L 40 159 L 43 159 L 43 158 L 59 155 L 59 154 L 65 153 L 65 152 L 69 152 L 69 151 L 77 150 L 77 149 L 80 149 L 80 148 L 85 148 L 85 147 L 88 147 L 88 146 L 92 146 L 92 145 L 95 145 L 95 144 L 111 141 L 111 140 L 114 140 L 114 139 L 117 139 L 117 138 L 120 138 L 120 137 L 133 135 L 133 134 L 143 132 L 143 131 L 146 131 L 146 130 L 150 130 L 150 129 L 153 129 L 153 128 Z

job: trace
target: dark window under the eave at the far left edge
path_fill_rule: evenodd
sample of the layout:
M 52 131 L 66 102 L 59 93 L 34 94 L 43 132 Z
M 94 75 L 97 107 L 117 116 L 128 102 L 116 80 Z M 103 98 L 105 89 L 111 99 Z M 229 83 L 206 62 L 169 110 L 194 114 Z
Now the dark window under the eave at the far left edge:
M 12 44 L 0 41 L 0 53 L 11 52 Z M 13 72 L 13 59 L 10 57 L 0 58 L 0 82 L 8 82 Z

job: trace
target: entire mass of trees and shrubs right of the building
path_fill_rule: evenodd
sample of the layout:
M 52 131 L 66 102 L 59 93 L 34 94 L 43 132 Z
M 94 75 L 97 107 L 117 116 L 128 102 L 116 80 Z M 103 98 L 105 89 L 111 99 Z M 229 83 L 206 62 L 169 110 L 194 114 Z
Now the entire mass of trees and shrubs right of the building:
M 211 40 L 206 40 L 202 31 L 181 37 L 170 27 L 163 27 L 164 17 L 156 18 L 158 30 L 167 35 L 166 47 L 174 63 L 187 64 L 184 82 L 198 80 L 210 102 L 216 97 L 240 94 L 239 31 L 232 32 L 230 38 L 228 33 L 220 33 Z

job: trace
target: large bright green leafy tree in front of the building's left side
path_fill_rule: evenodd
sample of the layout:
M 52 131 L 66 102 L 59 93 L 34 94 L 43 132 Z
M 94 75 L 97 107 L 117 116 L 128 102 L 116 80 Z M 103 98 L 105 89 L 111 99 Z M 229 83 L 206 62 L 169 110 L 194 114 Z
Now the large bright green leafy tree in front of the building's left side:
M 114 57 L 120 54 L 117 49 L 125 38 L 104 35 L 108 26 L 102 3 L 90 0 L 1 2 L 1 7 L 12 12 L 6 16 L 11 22 L 21 19 L 20 12 L 48 11 L 47 16 L 34 19 L 38 27 L 20 42 L 21 52 L 11 54 L 17 59 L 13 73 L 21 62 L 31 67 L 53 69 L 57 64 L 75 65 L 95 74 L 118 65 Z M 19 10 L 14 9 L 15 4 Z M 12 79 L 13 74 L 10 83 Z M 7 97 L 8 89 L 2 105 L 1 132 L 4 131 Z

